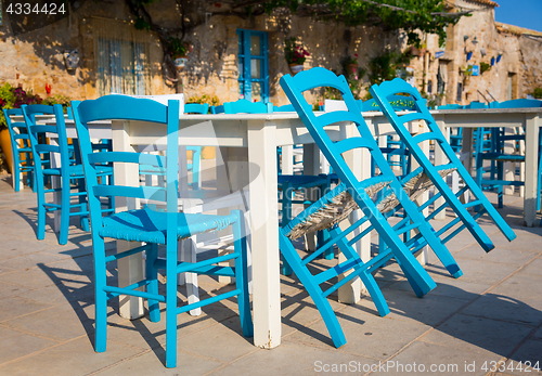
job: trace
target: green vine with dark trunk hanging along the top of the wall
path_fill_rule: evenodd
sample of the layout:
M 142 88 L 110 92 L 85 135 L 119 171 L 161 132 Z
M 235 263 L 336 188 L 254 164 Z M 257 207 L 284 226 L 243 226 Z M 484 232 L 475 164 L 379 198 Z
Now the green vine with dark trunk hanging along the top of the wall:
M 404 30 L 409 44 L 420 47 L 420 31 L 437 34 L 440 44 L 446 39 L 446 27 L 455 24 L 461 16 L 469 12 L 449 13 L 446 0 L 233 0 L 229 12 L 197 12 L 201 2 L 176 0 L 176 12 L 180 18 L 177 28 L 166 28 L 159 21 L 153 20 L 147 7 L 159 0 L 125 0 L 134 16 L 134 26 L 140 30 L 154 31 L 164 50 L 163 73 L 169 81 L 178 80 L 175 68 L 172 46 L 169 38 L 184 41 L 185 36 L 205 22 L 207 15 L 235 15 L 247 18 L 263 13 L 288 11 L 298 16 L 310 16 L 315 21 L 340 22 L 347 26 L 379 26 L 385 30 Z

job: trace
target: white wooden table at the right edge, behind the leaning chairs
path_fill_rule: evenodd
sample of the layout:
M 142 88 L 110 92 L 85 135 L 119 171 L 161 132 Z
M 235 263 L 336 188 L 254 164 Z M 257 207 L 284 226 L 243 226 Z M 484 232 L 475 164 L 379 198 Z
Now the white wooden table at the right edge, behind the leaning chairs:
M 524 222 L 526 226 L 537 223 L 537 190 L 539 164 L 539 131 L 542 127 L 542 108 L 476 108 L 476 109 L 439 109 L 430 112 L 449 139 L 450 128 L 465 128 L 463 131 L 463 152 L 469 157 L 465 160 L 467 171 L 473 174 L 473 130 L 477 127 L 525 127 L 525 194 Z M 444 157 L 437 148 L 435 158 Z

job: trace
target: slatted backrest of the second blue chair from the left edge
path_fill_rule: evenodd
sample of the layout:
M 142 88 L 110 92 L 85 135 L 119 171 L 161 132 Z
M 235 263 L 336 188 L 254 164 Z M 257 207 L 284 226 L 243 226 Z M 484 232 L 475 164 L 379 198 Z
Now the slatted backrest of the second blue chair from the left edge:
M 66 124 L 64 122 L 64 112 L 61 104 L 48 106 L 44 104 L 31 104 L 21 106 L 25 122 L 27 125 L 30 144 L 33 146 L 33 157 L 38 179 L 42 179 L 42 154 L 60 154 L 61 168 L 67 169 L 69 166 L 69 151 L 66 135 Z M 37 115 L 54 115 L 56 125 L 36 125 Z M 56 133 L 57 145 L 50 145 L 46 138 L 39 138 L 40 133 Z M 67 170 L 66 170 L 67 171 Z M 63 178 L 66 173 L 63 173 Z M 39 184 L 38 184 L 39 186 Z

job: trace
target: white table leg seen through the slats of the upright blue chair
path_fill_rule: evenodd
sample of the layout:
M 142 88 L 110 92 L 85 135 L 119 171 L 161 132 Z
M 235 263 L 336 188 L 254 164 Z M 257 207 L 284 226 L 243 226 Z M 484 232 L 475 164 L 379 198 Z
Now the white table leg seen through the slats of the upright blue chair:
M 128 121 L 113 121 L 113 148 L 118 152 L 137 152 L 137 147 L 130 144 Z M 116 164 L 115 165 L 115 184 L 139 186 L 139 170 L 136 164 Z M 117 197 L 115 199 L 116 209 L 131 210 L 138 205 L 136 199 Z M 136 242 L 117 241 L 117 252 L 121 252 L 140 244 Z M 126 287 L 143 278 L 143 260 L 141 254 L 136 254 L 117 261 L 118 265 L 118 285 Z M 138 319 L 143 315 L 143 299 L 138 297 L 120 296 L 119 312 L 125 319 Z

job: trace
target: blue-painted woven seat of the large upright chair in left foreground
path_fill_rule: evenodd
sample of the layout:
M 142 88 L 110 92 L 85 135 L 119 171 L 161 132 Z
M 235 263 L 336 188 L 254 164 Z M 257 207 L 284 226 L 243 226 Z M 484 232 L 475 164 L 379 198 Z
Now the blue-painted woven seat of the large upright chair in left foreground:
M 179 239 L 224 230 L 236 221 L 236 217 L 177 213 L 177 237 Z M 166 244 L 167 213 L 145 206 L 143 209 L 122 211 L 103 219 L 102 237 L 128 242 Z

